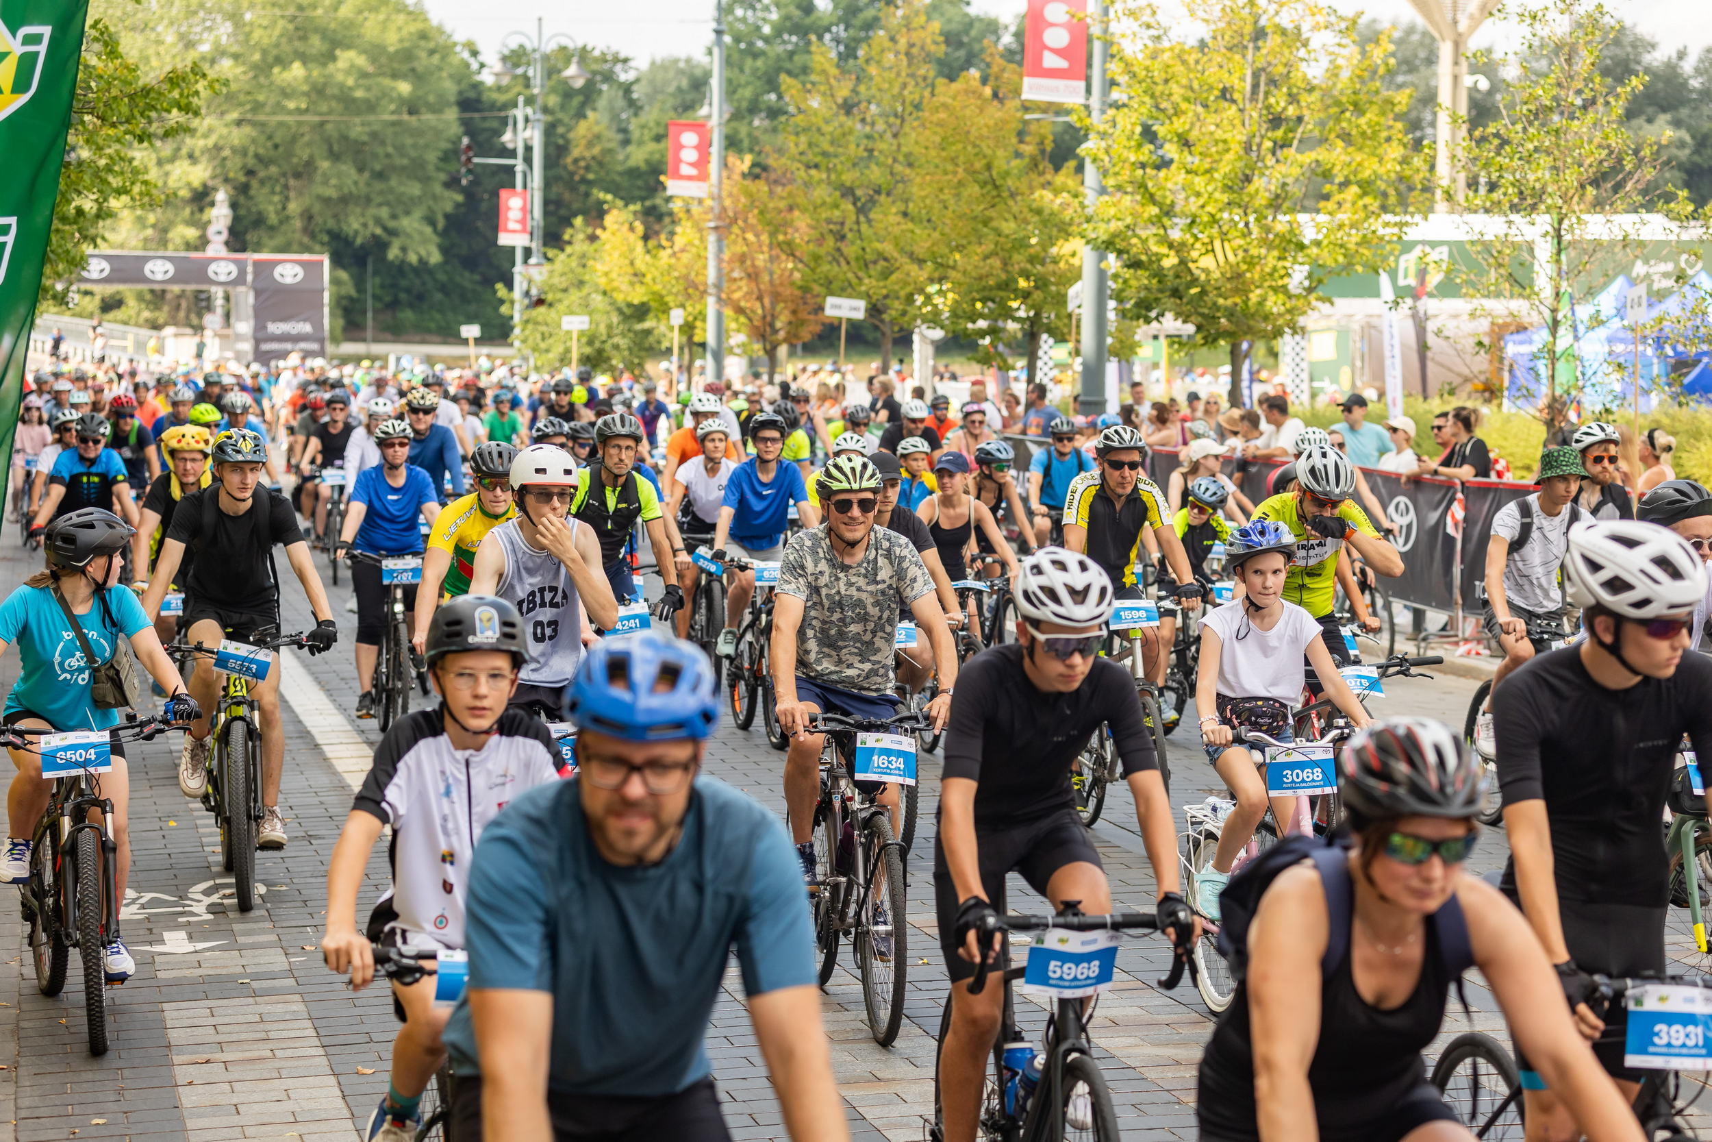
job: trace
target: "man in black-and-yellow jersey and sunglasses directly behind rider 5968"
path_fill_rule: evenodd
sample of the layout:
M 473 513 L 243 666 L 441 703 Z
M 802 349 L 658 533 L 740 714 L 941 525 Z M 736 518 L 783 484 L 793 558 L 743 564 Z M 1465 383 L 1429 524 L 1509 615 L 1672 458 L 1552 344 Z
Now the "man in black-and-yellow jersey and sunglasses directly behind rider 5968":
M 1101 430 L 1094 445 L 1099 467 L 1070 481 L 1065 500 L 1065 546 L 1084 551 L 1111 577 L 1120 599 L 1142 598 L 1137 565 L 1147 558 L 1144 544 L 1152 532 L 1164 555 L 1174 598 L 1195 610 L 1205 589 L 1190 574 L 1188 555 L 1171 526 L 1166 497 L 1142 474 L 1147 466 L 1147 442 L 1128 425 Z M 1166 678 L 1169 649 L 1176 639 L 1174 608 L 1159 608 L 1159 630 L 1142 637 L 1142 668 L 1154 683 Z

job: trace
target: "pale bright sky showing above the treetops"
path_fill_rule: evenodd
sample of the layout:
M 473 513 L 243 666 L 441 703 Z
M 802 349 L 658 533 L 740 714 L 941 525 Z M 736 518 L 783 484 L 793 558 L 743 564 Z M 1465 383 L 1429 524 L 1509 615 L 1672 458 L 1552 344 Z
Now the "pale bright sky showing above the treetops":
M 1418 19 L 1409 0 L 1332 0 L 1339 9 L 1383 21 Z M 1513 0 L 1512 0 L 1513 2 Z M 1712 3 L 1707 0 L 1608 0 L 1611 9 L 1661 45 L 1686 46 L 1690 55 L 1712 45 Z M 615 48 L 637 63 L 657 57 L 702 55 L 712 34 L 712 0 L 630 0 L 625 5 L 544 5 L 541 0 L 423 0 L 423 7 L 459 39 L 474 39 L 483 58 L 495 58 L 500 43 L 512 31 L 534 34 L 536 19 L 544 19 L 546 33 L 579 43 Z M 972 0 L 979 12 L 1014 21 L 1025 0 Z M 582 19 L 577 9 L 599 12 Z M 632 15 L 613 15 L 630 12 Z M 1474 39 L 1486 46 L 1501 36 L 1501 27 L 1488 26 Z

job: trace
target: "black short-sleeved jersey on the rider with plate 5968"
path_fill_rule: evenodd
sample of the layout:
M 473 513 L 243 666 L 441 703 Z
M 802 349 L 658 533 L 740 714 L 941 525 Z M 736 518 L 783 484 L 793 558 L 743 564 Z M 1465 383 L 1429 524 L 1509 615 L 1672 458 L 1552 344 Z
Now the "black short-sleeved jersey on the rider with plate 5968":
M 1130 671 L 1096 659 L 1082 685 L 1044 693 L 1029 681 L 1017 644 L 981 651 L 957 673 L 945 729 L 943 777 L 978 781 L 978 832 L 1075 808 L 1070 764 L 1101 723 L 1125 776 L 1159 769 Z

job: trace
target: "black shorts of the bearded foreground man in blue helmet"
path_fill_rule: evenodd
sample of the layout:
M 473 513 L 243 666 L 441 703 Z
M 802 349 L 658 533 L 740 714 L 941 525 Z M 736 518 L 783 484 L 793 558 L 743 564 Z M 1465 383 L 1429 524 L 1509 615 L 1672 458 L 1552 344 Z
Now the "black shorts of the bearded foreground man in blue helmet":
M 712 1079 L 666 1096 L 591 1096 L 546 1092 L 553 1142 L 729 1142 Z M 447 1137 L 481 1142 L 481 1075 L 452 1072 L 452 1121 Z

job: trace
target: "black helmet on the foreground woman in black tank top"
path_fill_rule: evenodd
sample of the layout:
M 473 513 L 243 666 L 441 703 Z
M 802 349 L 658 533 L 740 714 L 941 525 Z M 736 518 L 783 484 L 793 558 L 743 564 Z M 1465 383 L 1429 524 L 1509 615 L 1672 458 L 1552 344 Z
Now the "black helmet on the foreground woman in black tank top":
M 1459 733 L 1431 717 L 1385 717 L 1339 755 L 1337 791 L 1358 830 L 1387 817 L 1474 817 L 1484 767 Z

